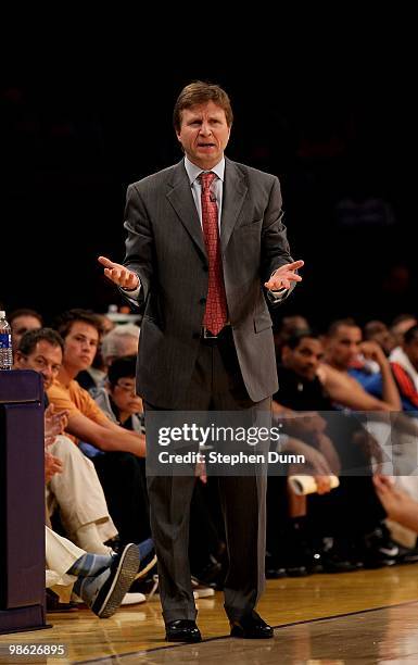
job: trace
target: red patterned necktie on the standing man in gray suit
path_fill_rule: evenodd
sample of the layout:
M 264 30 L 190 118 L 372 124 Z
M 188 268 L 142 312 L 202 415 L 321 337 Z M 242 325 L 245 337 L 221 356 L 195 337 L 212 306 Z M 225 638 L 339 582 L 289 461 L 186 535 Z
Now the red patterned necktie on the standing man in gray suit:
M 208 258 L 208 290 L 203 325 L 212 335 L 217 335 L 228 321 L 228 309 L 220 256 L 218 206 L 211 195 L 216 174 L 201 173 L 199 178 L 202 186 L 202 226 Z

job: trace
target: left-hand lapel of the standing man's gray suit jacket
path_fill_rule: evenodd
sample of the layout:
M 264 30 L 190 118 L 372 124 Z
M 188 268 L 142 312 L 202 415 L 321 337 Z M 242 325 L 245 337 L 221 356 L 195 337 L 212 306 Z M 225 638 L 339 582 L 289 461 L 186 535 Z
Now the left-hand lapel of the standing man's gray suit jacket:
M 188 178 L 185 168 L 185 163 L 182 160 L 174 167 L 173 178 L 168 186 L 168 201 L 176 211 L 180 222 L 188 230 L 193 242 L 197 244 L 197 247 L 207 261 L 202 227 L 194 204 L 193 195 L 191 193 L 190 180 Z

